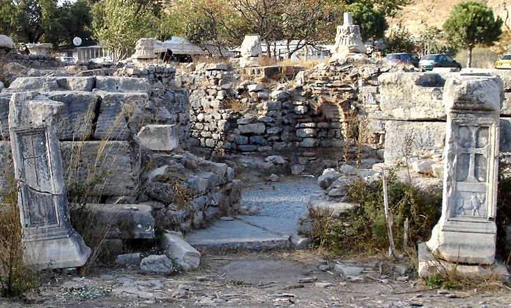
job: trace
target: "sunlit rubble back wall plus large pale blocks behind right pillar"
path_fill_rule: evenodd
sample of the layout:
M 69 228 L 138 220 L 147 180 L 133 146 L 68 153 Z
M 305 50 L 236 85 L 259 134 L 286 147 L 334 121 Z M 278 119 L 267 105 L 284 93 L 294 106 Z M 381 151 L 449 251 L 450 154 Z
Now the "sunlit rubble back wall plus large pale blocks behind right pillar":
M 335 60 L 281 83 L 257 75 L 242 80 L 227 65 L 206 64 L 179 79 L 191 89 L 192 145 L 221 152 L 282 154 L 291 170 L 300 173 L 345 161 L 372 165 L 399 161 L 405 155 L 438 156 L 445 143 L 443 85 L 459 74 L 501 76 L 505 152 L 511 147 L 510 72 L 406 72 L 372 60 Z

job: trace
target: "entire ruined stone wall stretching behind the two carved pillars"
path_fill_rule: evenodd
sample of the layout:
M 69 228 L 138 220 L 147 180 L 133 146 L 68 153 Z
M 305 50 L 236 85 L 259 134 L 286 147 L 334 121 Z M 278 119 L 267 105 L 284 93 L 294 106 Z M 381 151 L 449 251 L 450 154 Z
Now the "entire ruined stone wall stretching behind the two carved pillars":
M 235 215 L 242 210 L 236 176 L 248 171 L 318 176 L 333 169 L 342 177 L 321 182 L 327 201 L 342 197 L 352 177 L 373 176 L 369 168 L 376 163 L 392 166 L 404 157 L 413 170 L 440 181 L 445 85 L 466 74 L 407 70 L 339 58 L 309 69 L 119 64 L 89 65 L 75 76 L 8 75 L 0 94 L 0 149 L 10 155 L 6 119 L 13 93 L 33 90 L 63 103 L 56 134 L 64 179 L 85 185 L 95 170 L 104 174 L 89 202 L 98 211 L 122 213 L 105 222 L 130 222 L 113 224 L 108 237 L 120 254 L 123 241 L 151 238 L 155 225 L 186 233 Z M 511 74 L 493 73 L 511 88 Z M 501 155 L 511 149 L 508 92 L 500 109 Z M 337 202 L 337 209 L 349 206 Z

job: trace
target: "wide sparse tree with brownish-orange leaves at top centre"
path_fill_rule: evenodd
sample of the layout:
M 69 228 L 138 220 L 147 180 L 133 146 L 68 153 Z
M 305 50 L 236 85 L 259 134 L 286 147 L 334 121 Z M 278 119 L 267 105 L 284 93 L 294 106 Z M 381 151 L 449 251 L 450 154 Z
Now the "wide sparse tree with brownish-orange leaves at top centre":
M 277 40 L 286 41 L 289 54 L 305 44 L 333 38 L 342 16 L 340 6 L 326 0 L 177 0 L 173 3 L 165 19 L 172 21 L 174 35 L 186 36 L 192 42 L 211 41 L 236 47 L 243 42 L 245 34 L 252 33 L 260 35 L 268 47 Z M 270 56 L 274 53 L 268 49 Z

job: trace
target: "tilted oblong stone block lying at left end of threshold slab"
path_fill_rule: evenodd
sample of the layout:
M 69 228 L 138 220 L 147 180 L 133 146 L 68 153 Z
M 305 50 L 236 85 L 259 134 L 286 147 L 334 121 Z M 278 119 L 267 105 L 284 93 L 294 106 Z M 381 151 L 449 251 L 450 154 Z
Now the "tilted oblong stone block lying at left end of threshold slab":
M 159 243 L 160 249 L 183 270 L 199 267 L 201 254 L 183 238 L 174 234 L 165 234 Z

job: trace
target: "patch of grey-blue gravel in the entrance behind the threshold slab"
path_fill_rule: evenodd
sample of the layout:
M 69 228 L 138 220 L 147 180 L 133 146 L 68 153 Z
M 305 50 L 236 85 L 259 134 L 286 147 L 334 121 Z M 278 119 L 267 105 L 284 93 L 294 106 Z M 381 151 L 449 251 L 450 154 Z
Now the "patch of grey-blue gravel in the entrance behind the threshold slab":
M 309 196 L 316 193 L 322 193 L 316 178 L 284 178 L 245 188 L 241 193 L 241 205 L 248 209 L 256 206 L 258 216 L 298 220 L 307 211 Z

